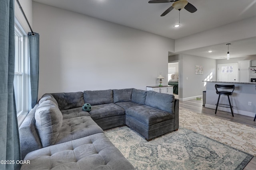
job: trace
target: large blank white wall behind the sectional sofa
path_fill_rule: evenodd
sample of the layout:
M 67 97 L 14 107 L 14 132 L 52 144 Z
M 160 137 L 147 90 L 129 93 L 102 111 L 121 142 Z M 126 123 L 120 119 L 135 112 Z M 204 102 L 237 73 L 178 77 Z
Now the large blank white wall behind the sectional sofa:
M 138 88 L 168 76 L 174 40 L 33 2 L 40 34 L 39 94 Z M 167 79 L 164 83 L 167 84 Z

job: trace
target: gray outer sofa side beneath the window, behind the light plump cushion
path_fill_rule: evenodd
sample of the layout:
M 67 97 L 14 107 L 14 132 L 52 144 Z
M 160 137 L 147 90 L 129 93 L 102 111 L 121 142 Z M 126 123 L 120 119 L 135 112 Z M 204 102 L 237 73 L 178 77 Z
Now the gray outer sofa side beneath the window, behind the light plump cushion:
M 21 151 L 21 157 L 22 160 L 28 154 L 28 152 L 31 152 L 33 150 L 41 149 L 42 144 L 40 142 L 40 139 L 38 137 L 38 133 L 36 132 L 35 127 L 35 112 L 36 108 L 39 106 L 37 104 L 26 116 L 24 121 L 22 122 L 20 128 L 19 128 L 19 134 L 20 134 L 20 151 Z

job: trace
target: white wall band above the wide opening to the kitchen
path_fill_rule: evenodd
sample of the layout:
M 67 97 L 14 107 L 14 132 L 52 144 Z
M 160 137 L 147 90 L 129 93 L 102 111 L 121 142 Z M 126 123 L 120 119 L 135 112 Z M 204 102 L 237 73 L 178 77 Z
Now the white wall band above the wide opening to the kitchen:
M 175 52 L 256 36 L 256 17 L 226 24 L 175 40 Z M 196 43 L 195 43 L 196 42 Z

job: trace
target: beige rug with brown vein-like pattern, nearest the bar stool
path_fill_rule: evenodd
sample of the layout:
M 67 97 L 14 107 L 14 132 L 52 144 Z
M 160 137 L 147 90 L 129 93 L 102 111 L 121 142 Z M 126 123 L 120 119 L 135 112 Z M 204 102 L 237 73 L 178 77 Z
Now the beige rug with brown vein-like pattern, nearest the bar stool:
M 179 120 L 181 127 L 256 156 L 255 127 L 183 108 Z

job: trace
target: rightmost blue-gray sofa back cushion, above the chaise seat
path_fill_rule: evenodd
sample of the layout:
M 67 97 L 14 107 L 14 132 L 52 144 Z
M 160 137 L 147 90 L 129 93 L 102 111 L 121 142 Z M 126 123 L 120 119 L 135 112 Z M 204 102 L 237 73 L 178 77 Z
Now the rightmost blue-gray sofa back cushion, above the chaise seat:
M 174 113 L 174 96 L 154 91 L 148 91 L 145 104 L 169 113 Z

